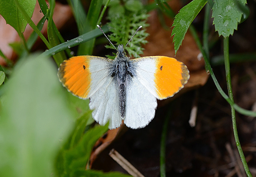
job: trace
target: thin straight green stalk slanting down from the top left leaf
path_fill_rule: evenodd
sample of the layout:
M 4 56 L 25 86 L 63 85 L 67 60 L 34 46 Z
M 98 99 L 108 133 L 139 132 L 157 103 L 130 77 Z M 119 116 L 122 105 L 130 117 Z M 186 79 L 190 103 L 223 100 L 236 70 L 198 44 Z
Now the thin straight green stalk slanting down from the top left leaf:
M 35 23 L 31 20 L 31 18 L 28 16 L 26 11 L 22 8 L 22 6 L 19 4 L 18 0 L 14 0 L 16 6 L 18 7 L 19 11 L 22 13 L 28 24 L 33 28 L 33 30 L 38 34 L 38 36 L 42 39 L 44 44 L 47 48 L 51 48 L 49 42 L 46 40 L 44 35 L 41 33 L 41 31 L 36 27 Z

